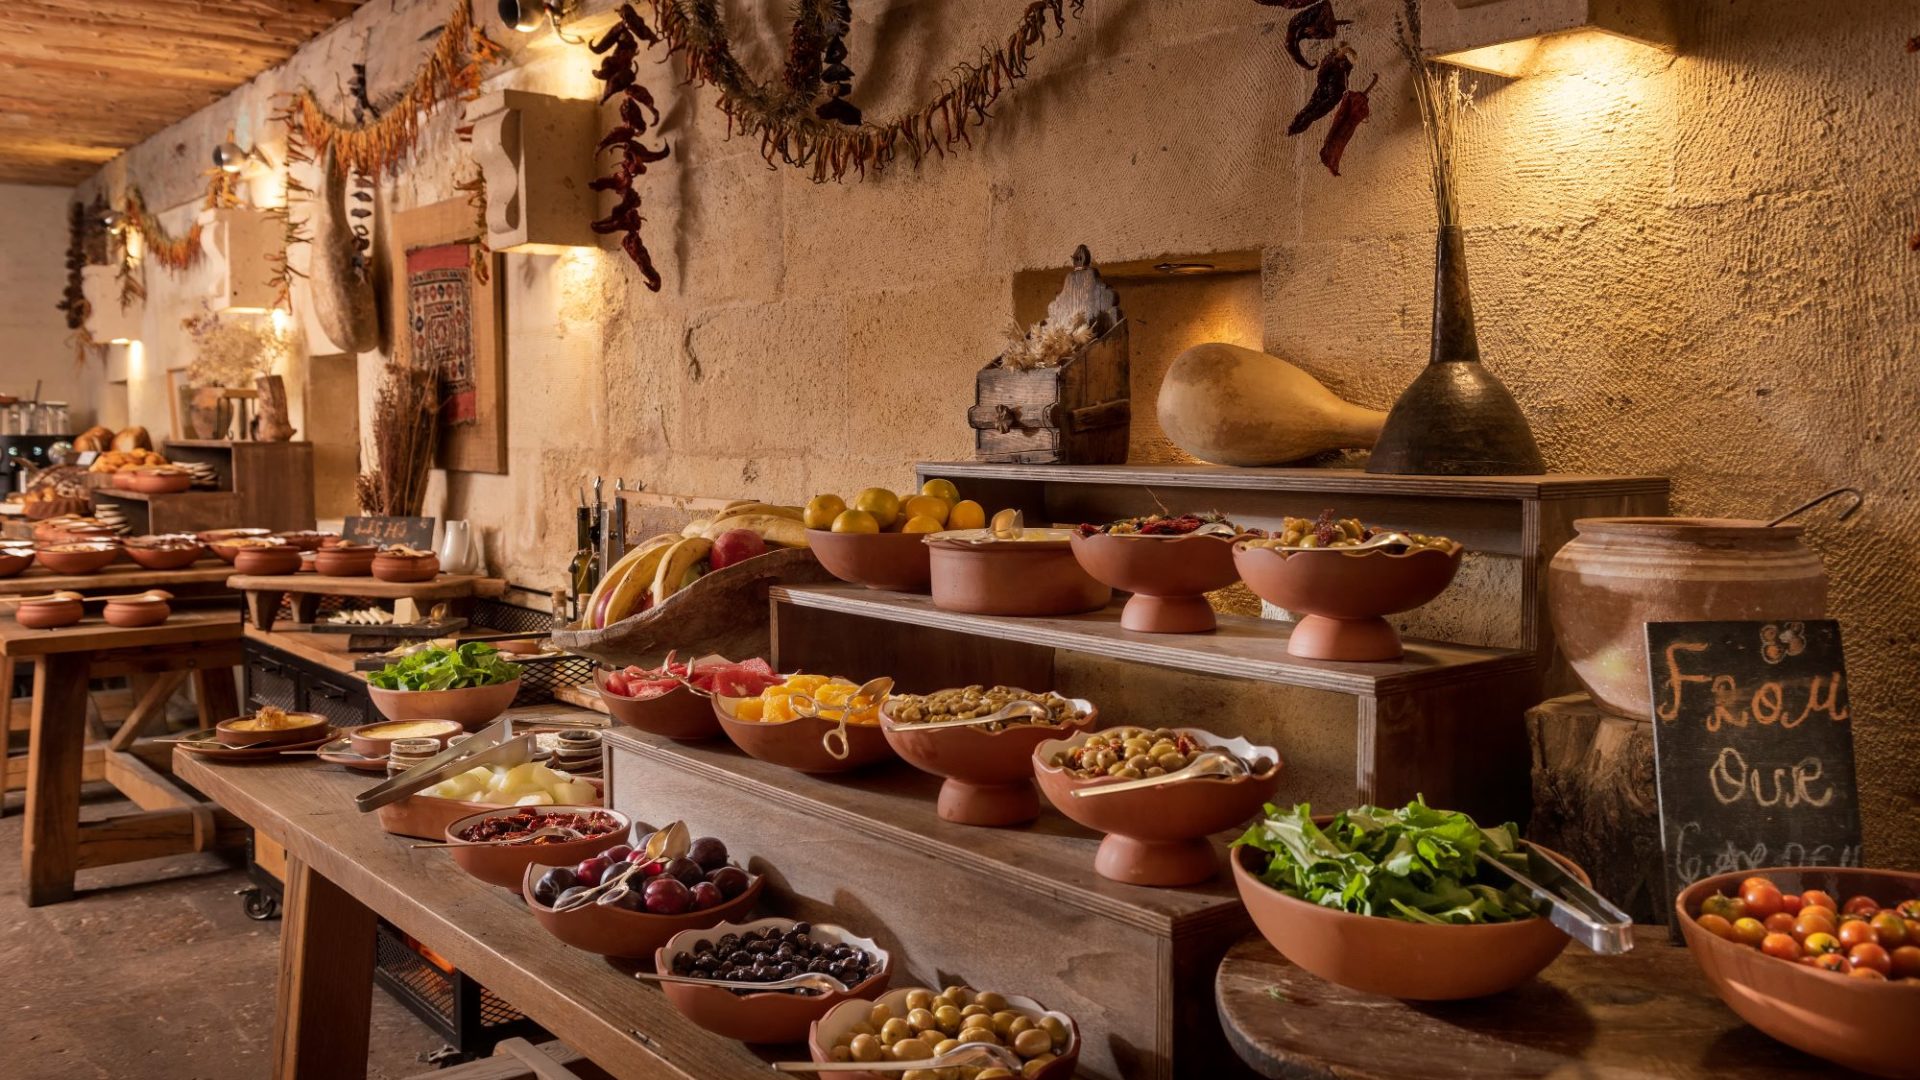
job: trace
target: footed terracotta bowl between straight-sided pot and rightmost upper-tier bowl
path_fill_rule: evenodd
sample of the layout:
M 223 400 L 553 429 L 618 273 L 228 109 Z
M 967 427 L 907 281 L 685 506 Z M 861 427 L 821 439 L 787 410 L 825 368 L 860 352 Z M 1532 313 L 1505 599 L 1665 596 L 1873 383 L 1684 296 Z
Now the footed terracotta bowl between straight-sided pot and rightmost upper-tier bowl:
M 1073 536 L 1081 569 L 1133 598 L 1119 625 L 1144 634 L 1200 634 L 1219 626 L 1206 594 L 1240 580 L 1231 536 Z

